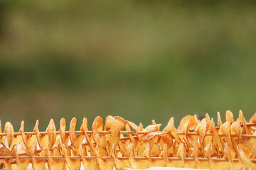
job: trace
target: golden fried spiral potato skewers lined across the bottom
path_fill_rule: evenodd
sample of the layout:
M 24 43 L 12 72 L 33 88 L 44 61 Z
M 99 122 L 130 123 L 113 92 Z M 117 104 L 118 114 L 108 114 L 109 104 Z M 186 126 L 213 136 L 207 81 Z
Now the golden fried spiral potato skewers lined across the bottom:
M 0 133 L 0 164 L 6 169 L 27 169 L 28 164 L 33 169 L 80 169 L 81 163 L 85 169 L 256 169 L 256 114 L 249 122 L 242 111 L 237 120 L 230 111 L 225 117 L 222 123 L 218 113 L 216 127 L 208 114 L 203 120 L 186 115 L 178 128 L 171 118 L 162 131 L 154 120 L 143 128 L 111 115 L 105 126 L 100 116 L 95 118 L 92 131 L 87 129 L 87 118 L 82 120 L 80 131 L 75 131 L 76 118 L 71 120 L 69 131 L 65 131 L 65 119 L 60 120 L 59 131 L 51 119 L 46 132 L 38 130 L 38 120 L 33 132 L 23 131 L 23 121 L 14 132 L 7 122 Z

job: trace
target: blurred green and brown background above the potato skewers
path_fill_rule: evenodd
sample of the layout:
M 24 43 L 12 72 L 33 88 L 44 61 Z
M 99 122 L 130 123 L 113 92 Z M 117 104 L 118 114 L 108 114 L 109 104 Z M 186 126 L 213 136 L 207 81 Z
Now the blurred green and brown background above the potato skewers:
M 0 0 L 0 118 L 176 125 L 256 111 L 254 1 Z

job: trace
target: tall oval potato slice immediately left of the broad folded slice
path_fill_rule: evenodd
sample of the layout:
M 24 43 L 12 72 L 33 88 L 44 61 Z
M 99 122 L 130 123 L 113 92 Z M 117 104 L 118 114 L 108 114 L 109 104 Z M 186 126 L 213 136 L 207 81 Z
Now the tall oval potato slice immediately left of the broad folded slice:
M 100 147 L 107 146 L 107 135 L 100 134 L 99 131 L 103 130 L 103 120 L 100 116 L 97 116 L 92 123 L 92 137 L 93 140 L 99 145 Z

